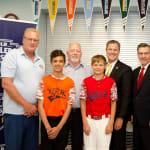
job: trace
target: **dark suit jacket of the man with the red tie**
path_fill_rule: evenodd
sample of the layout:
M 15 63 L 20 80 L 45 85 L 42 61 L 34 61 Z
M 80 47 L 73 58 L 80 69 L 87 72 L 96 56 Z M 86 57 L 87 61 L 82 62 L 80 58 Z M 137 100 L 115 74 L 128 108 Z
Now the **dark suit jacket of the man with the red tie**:
M 141 127 L 150 126 L 150 65 L 148 66 L 143 80 L 137 90 L 137 80 L 140 72 L 138 67 L 133 71 L 133 114 L 134 123 Z

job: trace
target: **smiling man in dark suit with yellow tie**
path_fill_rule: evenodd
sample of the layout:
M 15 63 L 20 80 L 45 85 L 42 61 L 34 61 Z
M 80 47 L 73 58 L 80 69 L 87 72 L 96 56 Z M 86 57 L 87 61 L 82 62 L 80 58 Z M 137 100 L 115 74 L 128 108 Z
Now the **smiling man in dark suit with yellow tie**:
M 116 81 L 118 101 L 114 130 L 112 133 L 110 150 L 126 150 L 126 125 L 129 118 L 131 102 L 131 67 L 119 61 L 120 43 L 115 40 L 106 44 L 108 65 L 106 75 Z

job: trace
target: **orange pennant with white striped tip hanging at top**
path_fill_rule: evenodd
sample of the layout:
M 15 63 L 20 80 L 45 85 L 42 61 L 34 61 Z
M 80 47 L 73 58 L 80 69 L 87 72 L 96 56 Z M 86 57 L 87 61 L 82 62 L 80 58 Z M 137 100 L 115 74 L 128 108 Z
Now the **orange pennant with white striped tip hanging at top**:
M 67 16 L 68 16 L 68 24 L 69 24 L 70 32 L 72 29 L 75 7 L 76 7 L 76 0 L 66 0 L 66 8 L 67 8 Z

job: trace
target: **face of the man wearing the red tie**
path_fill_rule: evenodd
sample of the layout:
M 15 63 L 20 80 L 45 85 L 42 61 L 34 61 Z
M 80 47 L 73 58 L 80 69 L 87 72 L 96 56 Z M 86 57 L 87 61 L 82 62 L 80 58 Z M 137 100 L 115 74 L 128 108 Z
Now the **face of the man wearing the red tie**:
M 150 62 L 150 48 L 148 46 L 138 49 L 138 59 L 143 67 Z

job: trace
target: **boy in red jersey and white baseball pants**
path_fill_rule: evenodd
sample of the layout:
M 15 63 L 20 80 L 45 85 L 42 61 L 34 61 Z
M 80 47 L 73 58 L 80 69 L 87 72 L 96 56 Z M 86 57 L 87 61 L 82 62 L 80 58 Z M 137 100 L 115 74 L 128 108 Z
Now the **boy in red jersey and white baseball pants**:
M 109 150 L 116 112 L 115 81 L 104 74 L 106 59 L 92 57 L 93 75 L 84 79 L 80 94 L 85 150 Z

